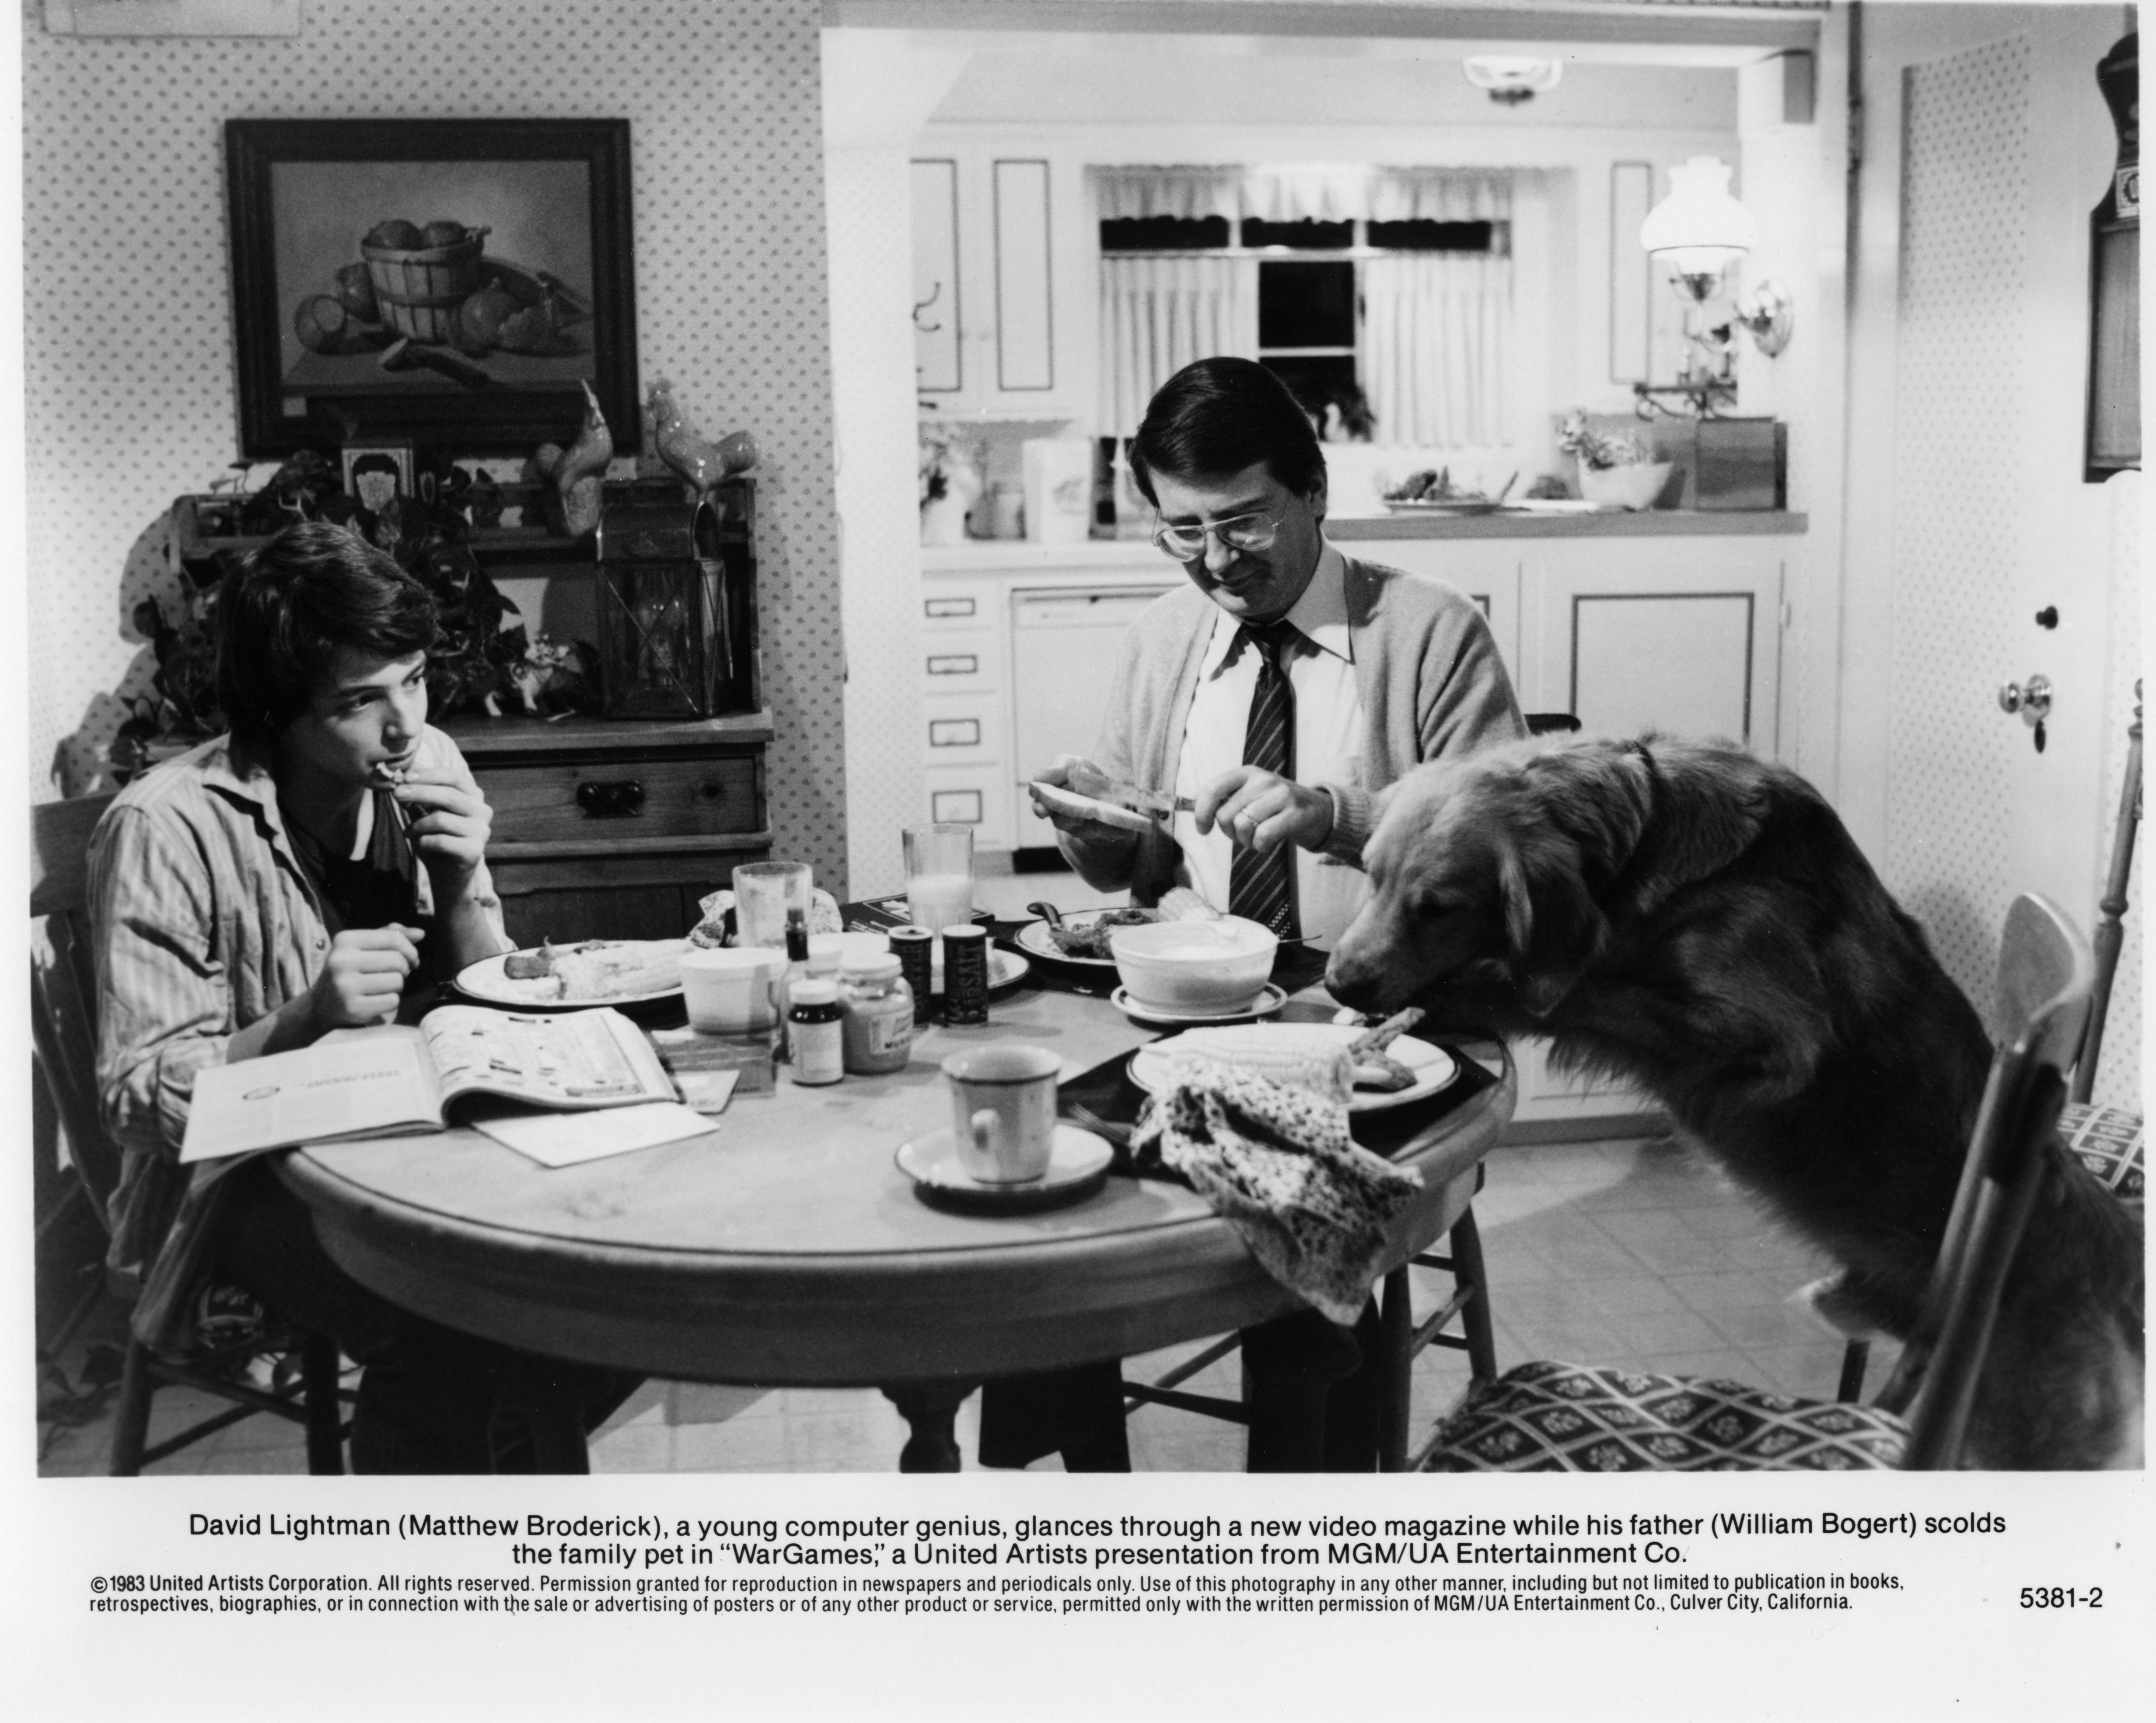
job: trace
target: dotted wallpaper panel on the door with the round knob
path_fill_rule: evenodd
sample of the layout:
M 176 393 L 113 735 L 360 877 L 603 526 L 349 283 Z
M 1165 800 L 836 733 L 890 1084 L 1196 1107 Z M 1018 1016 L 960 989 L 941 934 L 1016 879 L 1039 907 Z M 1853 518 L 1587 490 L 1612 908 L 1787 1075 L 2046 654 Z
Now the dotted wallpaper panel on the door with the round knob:
M 2029 39 L 1908 73 L 1895 423 L 1889 888 L 1990 1009 L 2007 880 L 2007 748 L 1968 722 L 1968 666 L 2007 662 L 2016 597 L 2029 252 Z

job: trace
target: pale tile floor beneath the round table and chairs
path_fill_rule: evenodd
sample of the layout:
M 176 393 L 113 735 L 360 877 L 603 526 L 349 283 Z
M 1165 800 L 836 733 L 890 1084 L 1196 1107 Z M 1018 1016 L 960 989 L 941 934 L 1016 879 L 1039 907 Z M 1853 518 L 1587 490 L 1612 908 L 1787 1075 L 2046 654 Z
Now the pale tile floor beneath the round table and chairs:
M 1662 1141 L 1507 1147 L 1490 1158 L 1475 1214 L 1490 1264 L 1501 1367 L 1526 1359 L 1628 1363 L 1660 1371 L 1731 1376 L 1757 1387 L 1826 1397 L 1841 1343 L 1787 1302 L 1824 1272 L 1805 1244 L 1764 1223 L 1751 1203 L 1697 1156 Z M 1432 1296 L 1445 1277 L 1416 1270 Z M 69 1367 L 93 1341 L 110 1343 L 116 1311 L 78 1337 Z M 1199 1348 L 1134 1359 L 1132 1378 L 1158 1376 Z M 1871 1382 L 1889 1359 L 1874 1356 Z M 1429 1348 L 1416 1361 L 1416 1428 L 1442 1415 L 1466 1384 L 1466 1356 Z M 1188 1384 L 1238 1393 L 1225 1359 Z M 201 1406 L 164 1391 L 151 1430 L 181 1428 Z M 110 1410 L 110 1408 L 108 1408 Z M 972 1466 L 979 1397 L 959 1412 Z M 41 1473 L 101 1473 L 110 1417 L 41 1430 Z M 591 1445 L 593 1471 L 890 1471 L 906 1425 L 875 1391 L 718 1389 L 653 1382 Z M 1242 1430 L 1147 1406 L 1130 1419 L 1138 1471 L 1240 1471 Z M 1041 1469 L 1056 1469 L 1054 1458 Z M 166 1460 L 168 1473 L 304 1471 L 295 1425 L 244 1419 Z

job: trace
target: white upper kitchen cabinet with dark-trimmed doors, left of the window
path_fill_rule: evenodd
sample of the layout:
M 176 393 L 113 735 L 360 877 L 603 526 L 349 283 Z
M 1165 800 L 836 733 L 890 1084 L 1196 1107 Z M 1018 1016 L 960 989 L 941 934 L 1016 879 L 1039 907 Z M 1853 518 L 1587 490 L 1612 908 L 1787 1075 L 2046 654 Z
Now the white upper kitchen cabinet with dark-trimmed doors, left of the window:
M 1056 257 L 1078 216 L 1074 170 L 955 144 L 912 164 L 914 364 L 931 416 L 1063 421 L 1076 408 L 1076 317 Z

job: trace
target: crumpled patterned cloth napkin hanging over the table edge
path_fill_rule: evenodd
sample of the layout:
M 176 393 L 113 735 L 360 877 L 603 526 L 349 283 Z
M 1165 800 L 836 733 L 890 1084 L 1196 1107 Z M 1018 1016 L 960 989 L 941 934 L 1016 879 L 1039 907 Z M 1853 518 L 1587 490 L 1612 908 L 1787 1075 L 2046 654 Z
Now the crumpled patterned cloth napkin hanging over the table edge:
M 1181 1173 L 1289 1292 L 1354 1326 L 1393 1218 L 1423 1188 L 1348 1136 L 1348 1104 L 1214 1059 L 1175 1059 L 1130 1139 Z

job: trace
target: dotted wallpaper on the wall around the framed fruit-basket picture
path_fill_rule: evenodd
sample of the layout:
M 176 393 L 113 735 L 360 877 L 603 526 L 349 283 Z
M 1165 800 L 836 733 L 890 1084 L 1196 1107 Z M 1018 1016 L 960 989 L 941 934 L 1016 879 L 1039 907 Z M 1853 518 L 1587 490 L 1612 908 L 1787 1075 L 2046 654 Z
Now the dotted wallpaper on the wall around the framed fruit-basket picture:
M 50 37 L 24 0 L 30 796 L 147 681 L 166 502 L 237 451 L 224 119 L 627 116 L 645 377 L 763 446 L 783 854 L 845 880 L 817 0 L 308 0 L 295 39 Z M 614 427 L 621 436 L 621 427 Z

